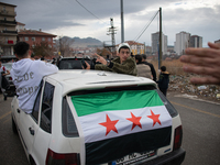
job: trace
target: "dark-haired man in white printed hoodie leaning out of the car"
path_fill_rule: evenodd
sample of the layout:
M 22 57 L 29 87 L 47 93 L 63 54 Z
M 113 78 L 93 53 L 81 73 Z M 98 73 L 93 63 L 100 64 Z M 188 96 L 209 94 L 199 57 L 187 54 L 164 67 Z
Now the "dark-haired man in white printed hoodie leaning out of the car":
M 11 77 L 19 96 L 19 107 L 26 113 L 32 112 L 42 78 L 58 72 L 58 68 L 53 64 L 32 61 L 29 48 L 30 45 L 25 42 L 19 42 L 14 45 L 14 54 L 19 61 L 12 65 L 11 69 Z

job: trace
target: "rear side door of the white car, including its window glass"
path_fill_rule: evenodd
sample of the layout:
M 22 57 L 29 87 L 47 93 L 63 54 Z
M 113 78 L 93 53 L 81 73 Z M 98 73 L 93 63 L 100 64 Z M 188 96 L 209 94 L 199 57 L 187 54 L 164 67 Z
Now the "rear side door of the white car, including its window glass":
M 32 157 L 36 164 L 45 164 L 46 154 L 52 136 L 52 112 L 55 86 L 53 82 L 46 80 L 43 88 L 41 107 L 40 107 L 40 121 L 38 131 L 33 144 Z

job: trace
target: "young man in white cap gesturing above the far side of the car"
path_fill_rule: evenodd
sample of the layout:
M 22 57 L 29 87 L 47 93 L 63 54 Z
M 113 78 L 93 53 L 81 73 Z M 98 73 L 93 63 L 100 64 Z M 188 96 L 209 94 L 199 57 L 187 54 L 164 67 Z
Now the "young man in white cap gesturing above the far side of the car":
M 109 61 L 96 54 L 97 61 L 101 64 L 95 65 L 96 70 L 107 70 L 118 74 L 127 74 L 136 76 L 136 63 L 131 57 L 131 48 L 128 43 L 121 43 L 118 47 L 118 57 Z M 87 68 L 90 69 L 90 65 L 86 62 Z

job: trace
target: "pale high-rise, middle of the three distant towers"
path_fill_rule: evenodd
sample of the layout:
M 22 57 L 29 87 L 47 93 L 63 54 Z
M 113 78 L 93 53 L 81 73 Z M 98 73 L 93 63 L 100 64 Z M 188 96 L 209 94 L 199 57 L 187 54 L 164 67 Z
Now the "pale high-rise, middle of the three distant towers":
M 184 51 L 189 47 L 190 33 L 180 32 L 176 34 L 175 52 L 177 55 L 183 55 Z

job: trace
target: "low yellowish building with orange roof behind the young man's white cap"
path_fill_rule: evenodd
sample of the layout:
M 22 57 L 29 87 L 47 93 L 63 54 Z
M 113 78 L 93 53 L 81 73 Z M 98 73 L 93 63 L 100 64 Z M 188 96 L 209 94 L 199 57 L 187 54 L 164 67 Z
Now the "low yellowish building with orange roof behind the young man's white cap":
M 145 53 L 145 45 L 142 43 L 138 43 L 134 41 L 127 41 L 125 43 L 128 43 L 131 47 L 131 52 L 133 55 L 136 54 L 144 54 Z M 118 50 L 119 45 L 116 45 L 116 48 Z

